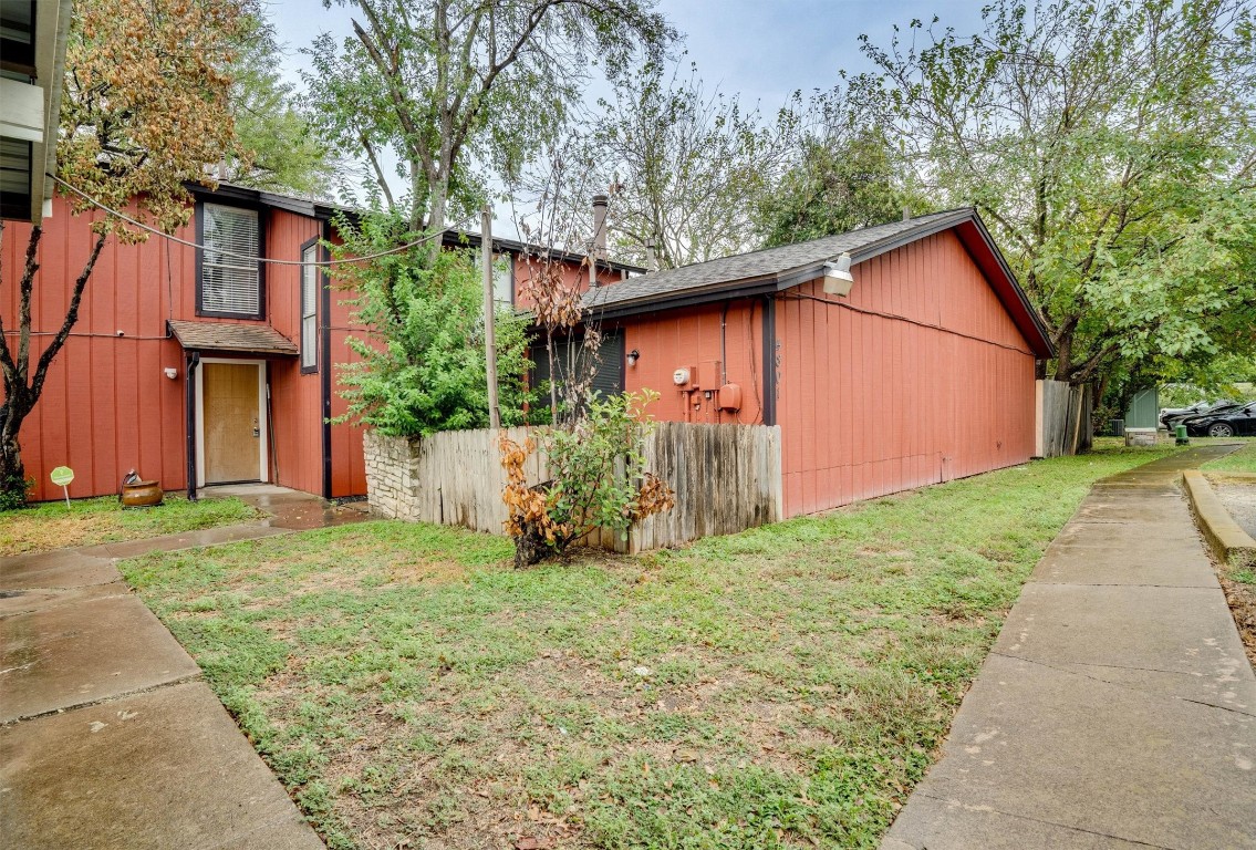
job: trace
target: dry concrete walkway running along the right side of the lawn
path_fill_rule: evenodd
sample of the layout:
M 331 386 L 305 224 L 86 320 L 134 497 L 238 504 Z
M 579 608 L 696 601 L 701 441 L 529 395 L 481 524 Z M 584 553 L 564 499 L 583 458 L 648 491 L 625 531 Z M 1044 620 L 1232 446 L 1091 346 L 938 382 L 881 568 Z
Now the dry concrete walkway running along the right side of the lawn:
M 1256 847 L 1256 675 L 1177 476 L 1099 482 L 882 850 Z

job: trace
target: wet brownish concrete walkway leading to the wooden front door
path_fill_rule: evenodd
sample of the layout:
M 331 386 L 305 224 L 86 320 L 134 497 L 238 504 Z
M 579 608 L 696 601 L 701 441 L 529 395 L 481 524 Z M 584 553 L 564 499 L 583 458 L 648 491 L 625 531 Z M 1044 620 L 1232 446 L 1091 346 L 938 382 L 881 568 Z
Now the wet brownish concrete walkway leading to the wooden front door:
M 0 559 L 0 847 L 323 842 L 116 562 L 364 519 L 278 487 L 251 525 Z

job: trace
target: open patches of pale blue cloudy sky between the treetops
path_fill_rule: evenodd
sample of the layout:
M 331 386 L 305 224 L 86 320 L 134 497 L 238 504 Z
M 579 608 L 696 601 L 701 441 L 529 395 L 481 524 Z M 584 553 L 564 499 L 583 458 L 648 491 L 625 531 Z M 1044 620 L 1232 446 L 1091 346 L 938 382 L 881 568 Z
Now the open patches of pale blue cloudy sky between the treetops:
M 685 49 L 710 88 L 737 94 L 775 112 L 798 89 L 828 89 L 838 72 L 868 70 L 859 35 L 888 45 L 893 26 L 913 18 L 962 34 L 978 29 L 982 3 L 973 0 L 658 0 L 657 8 L 685 34 Z M 285 44 L 289 75 L 305 64 L 299 49 L 319 33 L 350 34 L 353 10 L 320 0 L 269 0 Z M 502 222 L 506 223 L 506 222 Z M 506 223 L 509 227 L 509 223 Z

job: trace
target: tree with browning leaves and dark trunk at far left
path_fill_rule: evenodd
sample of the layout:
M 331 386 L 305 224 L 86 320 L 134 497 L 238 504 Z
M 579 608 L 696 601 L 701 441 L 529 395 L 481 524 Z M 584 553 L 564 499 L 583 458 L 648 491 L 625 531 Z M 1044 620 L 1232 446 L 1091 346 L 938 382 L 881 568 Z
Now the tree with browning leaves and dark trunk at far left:
M 74 5 L 58 175 L 104 206 L 131 205 L 131 215 L 171 232 L 191 216 L 185 182 L 211 185 L 207 163 L 232 156 L 226 69 L 241 26 L 256 9 L 251 0 L 78 0 Z M 75 215 L 90 208 L 78 195 L 70 201 Z M 0 271 L 0 286 L 13 285 L 14 277 L 18 282 L 16 347 L 0 326 L 0 495 L 14 503 L 26 492 L 18 441 L 21 423 L 39 402 L 48 370 L 78 321 L 100 250 L 111 237 L 139 242 L 147 234 L 113 216 L 98 217 L 64 318 L 51 335 L 34 336 L 31 303 L 36 288 L 45 285 L 39 276 L 43 227 L 5 230 L 19 230 L 26 239 L 21 267 Z

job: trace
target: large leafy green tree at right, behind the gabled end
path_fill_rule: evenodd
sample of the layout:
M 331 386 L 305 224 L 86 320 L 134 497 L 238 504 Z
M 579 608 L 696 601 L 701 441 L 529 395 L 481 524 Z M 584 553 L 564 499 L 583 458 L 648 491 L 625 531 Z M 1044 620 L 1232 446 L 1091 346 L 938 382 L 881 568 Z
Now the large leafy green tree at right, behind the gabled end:
M 982 15 L 970 38 L 921 21 L 887 49 L 865 38 L 879 74 L 853 90 L 939 200 L 992 223 L 1059 349 L 1054 377 L 1235 342 L 1226 316 L 1256 300 L 1250 4 L 1000 0 Z

